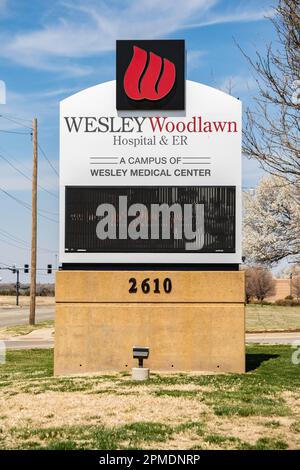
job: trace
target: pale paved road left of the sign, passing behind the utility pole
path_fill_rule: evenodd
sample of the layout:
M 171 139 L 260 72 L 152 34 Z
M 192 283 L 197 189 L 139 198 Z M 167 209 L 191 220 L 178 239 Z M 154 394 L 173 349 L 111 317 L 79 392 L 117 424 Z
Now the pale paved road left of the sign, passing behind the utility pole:
M 29 307 L 0 307 L 0 328 L 28 323 Z M 54 319 L 54 305 L 37 307 L 36 321 Z

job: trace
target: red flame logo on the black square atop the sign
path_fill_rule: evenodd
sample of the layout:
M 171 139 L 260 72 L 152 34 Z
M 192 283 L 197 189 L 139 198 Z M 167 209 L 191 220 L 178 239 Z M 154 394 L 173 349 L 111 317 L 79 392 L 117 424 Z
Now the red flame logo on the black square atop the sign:
M 147 59 L 146 51 L 133 46 L 133 57 L 124 75 L 124 90 L 128 98 L 135 101 L 160 100 L 170 93 L 175 83 L 173 62 L 150 52 L 146 67 Z

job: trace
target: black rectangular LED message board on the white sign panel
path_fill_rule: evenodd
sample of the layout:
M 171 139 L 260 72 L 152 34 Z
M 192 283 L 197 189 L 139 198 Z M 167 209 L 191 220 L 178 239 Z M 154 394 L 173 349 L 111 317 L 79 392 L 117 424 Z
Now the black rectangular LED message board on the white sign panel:
M 65 253 L 234 253 L 234 186 L 65 189 Z

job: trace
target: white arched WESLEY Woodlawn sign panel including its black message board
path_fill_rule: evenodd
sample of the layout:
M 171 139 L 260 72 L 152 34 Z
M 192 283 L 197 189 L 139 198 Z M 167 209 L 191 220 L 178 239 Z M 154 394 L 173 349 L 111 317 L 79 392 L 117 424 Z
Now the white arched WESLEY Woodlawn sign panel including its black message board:
M 120 112 L 115 87 L 61 102 L 60 262 L 240 263 L 241 102 L 186 81 L 184 112 Z

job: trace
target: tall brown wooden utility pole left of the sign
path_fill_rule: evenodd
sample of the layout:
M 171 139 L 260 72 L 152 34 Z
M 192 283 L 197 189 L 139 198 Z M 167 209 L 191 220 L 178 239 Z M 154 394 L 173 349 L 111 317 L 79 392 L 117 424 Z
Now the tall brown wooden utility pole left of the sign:
M 29 324 L 35 324 L 36 296 L 36 245 L 37 245 L 37 119 L 32 121 L 33 168 L 32 168 L 32 203 L 31 203 L 31 280 Z

